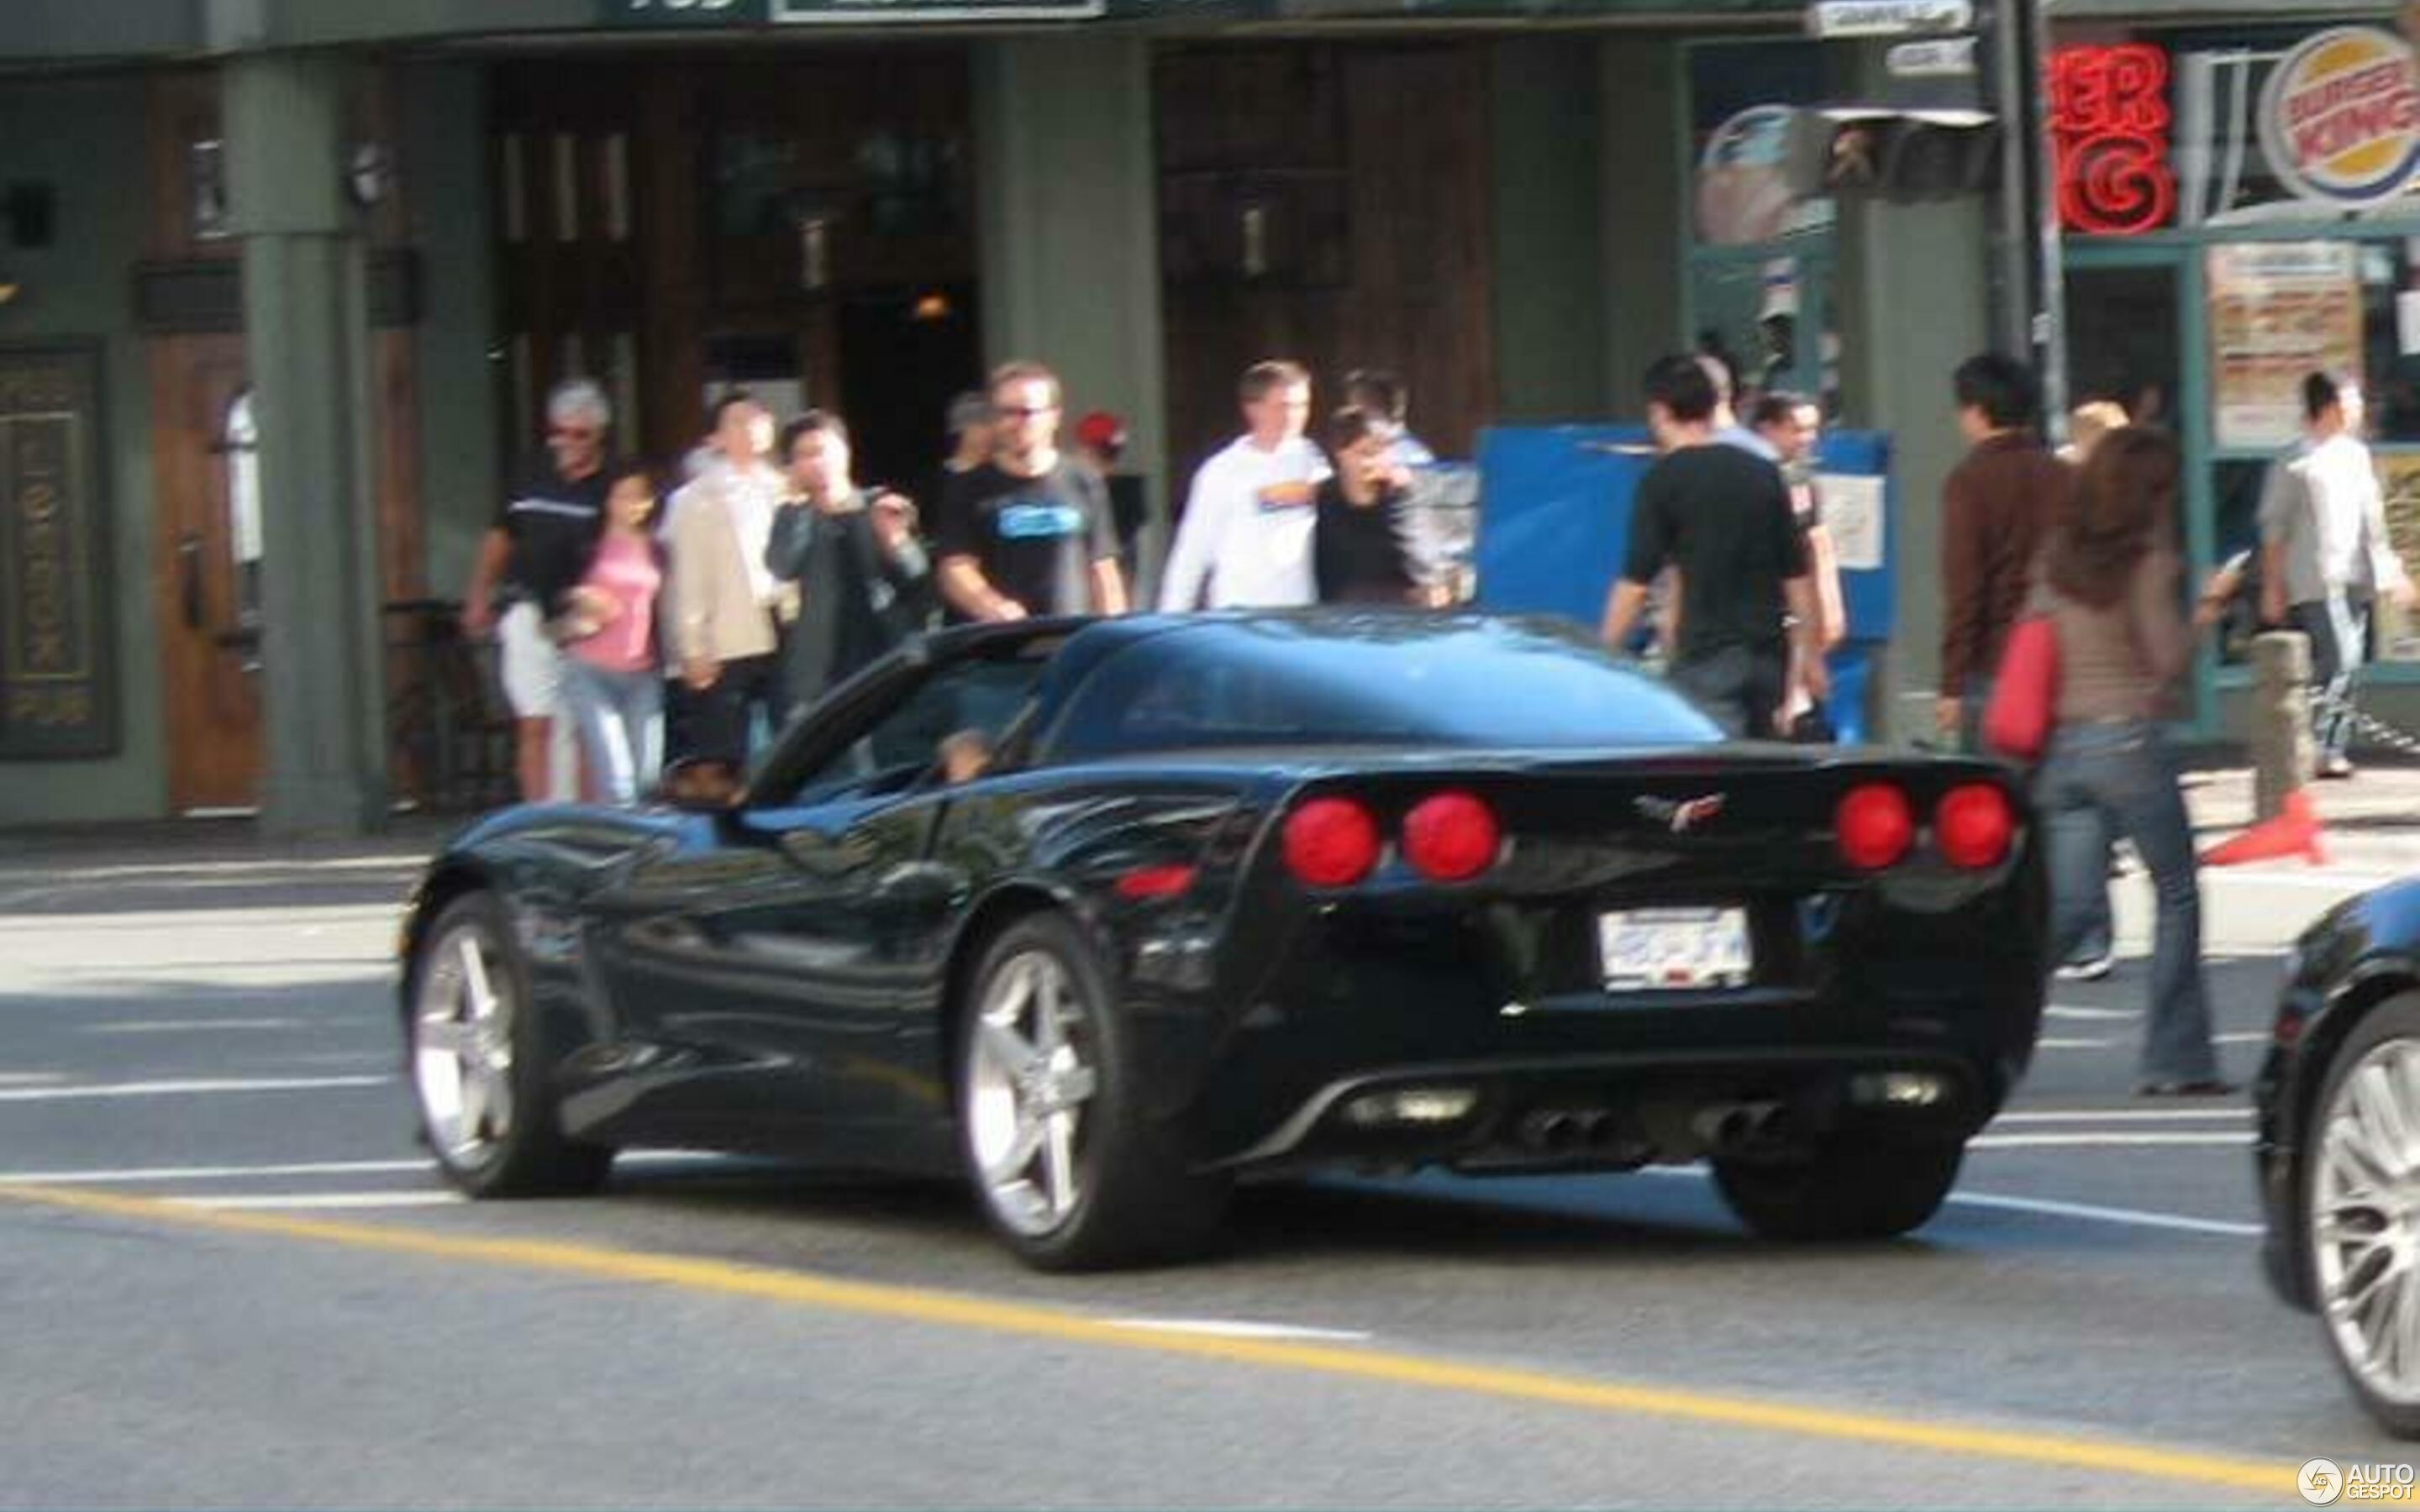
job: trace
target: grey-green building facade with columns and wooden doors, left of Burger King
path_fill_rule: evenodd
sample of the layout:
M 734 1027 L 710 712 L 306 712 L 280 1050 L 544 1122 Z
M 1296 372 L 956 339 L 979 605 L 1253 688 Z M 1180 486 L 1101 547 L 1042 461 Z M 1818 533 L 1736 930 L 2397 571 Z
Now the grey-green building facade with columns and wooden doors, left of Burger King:
M 0 10 L 0 825 L 353 830 L 426 796 L 424 602 L 462 593 L 569 373 L 663 462 L 728 382 L 837 406 L 862 477 L 912 491 L 949 394 L 1038 356 L 1070 416 L 1128 421 L 1164 520 L 1261 356 L 1394 368 L 1467 455 L 1636 414 L 1653 356 L 1738 329 L 1759 377 L 1905 431 L 1912 498 L 1938 481 L 1931 368 L 1987 341 L 1984 210 L 1701 235 L 1706 116 L 1803 68 L 1716 53 L 1803 58 L 1796 5 L 1416 12 Z M 1909 290 L 1936 312 L 1897 331 Z M 1784 305 L 1808 336 L 1757 353 Z

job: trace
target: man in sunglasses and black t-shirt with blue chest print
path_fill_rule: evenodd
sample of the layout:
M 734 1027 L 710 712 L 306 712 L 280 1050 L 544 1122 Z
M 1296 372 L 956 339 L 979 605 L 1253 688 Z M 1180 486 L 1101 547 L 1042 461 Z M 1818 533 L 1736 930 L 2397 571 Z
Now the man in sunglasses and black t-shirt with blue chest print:
M 1101 477 L 1058 450 L 1058 377 L 1041 363 L 999 368 L 992 416 L 992 460 L 949 479 L 934 530 L 951 614 L 1123 614 Z

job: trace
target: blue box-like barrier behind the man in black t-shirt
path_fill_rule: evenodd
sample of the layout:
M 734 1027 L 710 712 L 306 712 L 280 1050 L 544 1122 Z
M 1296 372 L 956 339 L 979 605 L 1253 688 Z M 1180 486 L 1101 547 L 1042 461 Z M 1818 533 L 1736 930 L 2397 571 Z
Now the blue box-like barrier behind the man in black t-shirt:
M 1621 573 L 1631 498 L 1653 464 L 1646 426 L 1488 428 L 1479 438 L 1479 605 L 1600 624 Z M 1844 549 L 1839 593 L 1849 614 L 1849 639 L 1830 656 L 1830 714 L 1842 740 L 1861 743 L 1873 714 L 1873 653 L 1890 639 L 1897 600 L 1890 435 L 1825 435 L 1817 474 L 1842 479 L 1827 501 L 1839 501 L 1830 518 Z

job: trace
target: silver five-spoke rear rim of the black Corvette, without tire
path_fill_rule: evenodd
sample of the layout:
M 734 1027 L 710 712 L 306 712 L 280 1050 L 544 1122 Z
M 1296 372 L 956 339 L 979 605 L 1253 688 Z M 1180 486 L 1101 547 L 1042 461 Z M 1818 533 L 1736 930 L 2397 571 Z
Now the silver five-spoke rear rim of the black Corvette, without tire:
M 1065 963 L 1048 951 L 1012 956 L 973 1031 L 966 1127 L 983 1193 L 1009 1229 L 1050 1234 L 1084 1195 L 1077 1154 L 1099 1089 L 1091 1026 Z

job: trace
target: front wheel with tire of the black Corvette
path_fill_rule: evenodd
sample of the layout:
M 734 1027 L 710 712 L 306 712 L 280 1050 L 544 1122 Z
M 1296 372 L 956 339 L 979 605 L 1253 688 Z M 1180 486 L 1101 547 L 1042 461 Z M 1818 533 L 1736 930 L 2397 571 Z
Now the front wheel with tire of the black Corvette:
M 411 956 L 404 1060 L 421 1137 L 472 1198 L 578 1195 L 612 1149 L 566 1139 L 530 1009 L 530 970 L 494 893 L 445 905 Z

